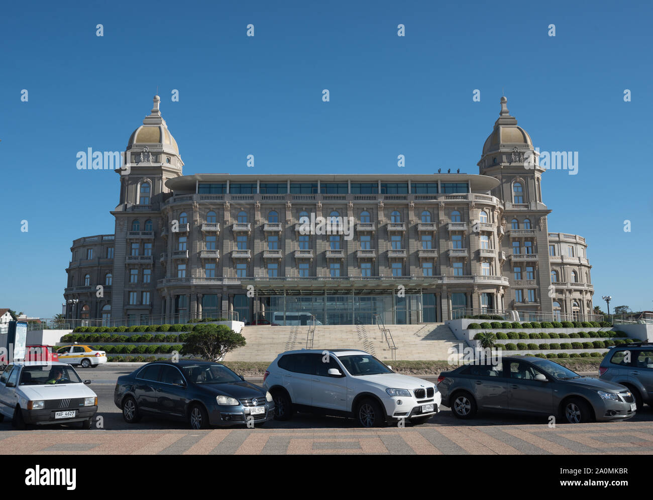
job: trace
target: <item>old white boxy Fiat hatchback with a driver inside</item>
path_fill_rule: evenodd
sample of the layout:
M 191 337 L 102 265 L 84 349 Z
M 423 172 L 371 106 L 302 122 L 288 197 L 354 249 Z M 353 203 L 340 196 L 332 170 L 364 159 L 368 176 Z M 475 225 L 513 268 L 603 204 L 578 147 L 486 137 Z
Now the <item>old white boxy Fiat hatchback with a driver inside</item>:
M 24 429 L 25 424 L 82 422 L 90 429 L 97 412 L 97 395 L 69 364 L 14 363 L 0 373 L 0 420 Z

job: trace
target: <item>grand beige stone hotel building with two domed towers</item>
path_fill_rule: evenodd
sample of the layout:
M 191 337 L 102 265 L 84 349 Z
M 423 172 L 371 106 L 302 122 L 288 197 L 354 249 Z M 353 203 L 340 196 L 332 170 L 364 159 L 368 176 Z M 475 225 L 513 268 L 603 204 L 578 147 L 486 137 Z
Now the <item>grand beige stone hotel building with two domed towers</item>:
M 105 324 L 227 313 L 280 324 L 308 313 L 322 324 L 587 318 L 586 242 L 549 232 L 545 169 L 529 168 L 531 155 L 502 97 L 478 175 L 184 176 L 155 96 L 118 172 L 115 233 L 72 244 L 65 314 Z M 353 238 L 302 234 L 311 214 L 353 218 Z

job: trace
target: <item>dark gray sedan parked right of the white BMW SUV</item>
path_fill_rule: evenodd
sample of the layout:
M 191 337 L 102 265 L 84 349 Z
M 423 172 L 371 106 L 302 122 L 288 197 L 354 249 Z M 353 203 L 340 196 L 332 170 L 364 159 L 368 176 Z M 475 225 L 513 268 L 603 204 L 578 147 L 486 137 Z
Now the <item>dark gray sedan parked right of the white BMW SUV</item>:
M 628 388 L 581 377 L 551 360 L 504 356 L 498 364 L 468 364 L 438 377 L 442 404 L 458 418 L 478 410 L 555 416 L 577 424 L 635 415 Z

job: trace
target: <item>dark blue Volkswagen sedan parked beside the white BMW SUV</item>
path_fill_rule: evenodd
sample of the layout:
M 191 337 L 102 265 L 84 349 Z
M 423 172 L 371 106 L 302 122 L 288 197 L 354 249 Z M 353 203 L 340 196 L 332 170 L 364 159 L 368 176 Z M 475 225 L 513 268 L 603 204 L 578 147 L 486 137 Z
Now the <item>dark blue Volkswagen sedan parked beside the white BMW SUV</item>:
M 274 418 L 272 396 L 223 364 L 183 360 L 148 363 L 118 377 L 114 403 L 125 422 L 144 416 L 210 426 L 262 425 Z

